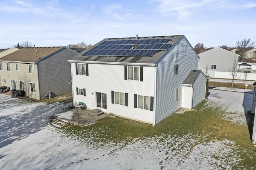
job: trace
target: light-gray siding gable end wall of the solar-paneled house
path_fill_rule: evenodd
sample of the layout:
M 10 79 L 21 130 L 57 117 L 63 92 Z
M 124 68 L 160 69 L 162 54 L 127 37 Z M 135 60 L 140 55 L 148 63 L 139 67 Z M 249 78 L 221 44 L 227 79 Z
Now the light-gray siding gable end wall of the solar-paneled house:
M 176 89 L 181 87 L 181 82 L 184 81 L 190 70 L 198 69 L 198 55 L 186 38 L 182 38 L 172 48 L 157 63 L 156 123 L 181 108 L 181 100 L 175 100 Z M 176 57 L 175 60 L 174 57 Z M 178 74 L 174 75 L 174 65 L 177 64 Z

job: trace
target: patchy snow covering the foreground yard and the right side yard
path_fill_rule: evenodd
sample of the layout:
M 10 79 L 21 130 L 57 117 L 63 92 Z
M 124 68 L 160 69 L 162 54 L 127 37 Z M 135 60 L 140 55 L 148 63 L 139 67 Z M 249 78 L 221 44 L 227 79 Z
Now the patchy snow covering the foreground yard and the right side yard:
M 232 121 L 244 122 L 251 101 L 252 94 L 210 90 L 208 103 L 223 104 L 238 113 L 239 119 L 231 117 Z M 102 147 L 90 139 L 75 140 L 48 122 L 65 107 L 25 103 L 0 94 L 0 169 L 243 169 L 235 141 L 204 141 L 207 137 L 194 132 Z

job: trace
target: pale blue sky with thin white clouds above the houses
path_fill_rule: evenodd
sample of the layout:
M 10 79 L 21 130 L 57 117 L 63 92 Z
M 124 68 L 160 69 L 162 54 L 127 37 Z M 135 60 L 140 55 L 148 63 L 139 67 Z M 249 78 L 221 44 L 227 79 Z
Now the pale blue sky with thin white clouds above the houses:
M 194 47 L 256 41 L 255 0 L 0 0 L 0 48 L 185 35 Z

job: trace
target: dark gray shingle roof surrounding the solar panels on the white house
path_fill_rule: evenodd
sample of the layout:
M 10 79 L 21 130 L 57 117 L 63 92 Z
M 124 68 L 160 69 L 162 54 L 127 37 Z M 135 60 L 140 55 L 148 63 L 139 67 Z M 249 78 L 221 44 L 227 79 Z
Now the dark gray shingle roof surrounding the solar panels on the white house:
M 167 43 L 174 46 L 184 35 L 173 35 L 173 36 L 157 36 L 157 37 L 138 37 L 140 39 L 170 39 Z M 136 37 L 130 38 L 107 38 L 93 45 L 90 49 L 94 48 L 96 45 L 104 41 L 112 40 L 135 40 Z M 172 48 L 172 47 L 171 47 Z M 86 51 L 90 50 L 87 49 Z M 84 52 L 86 52 L 84 51 Z M 168 50 L 159 50 L 152 57 L 126 57 L 126 56 L 83 56 L 80 53 L 70 60 L 74 61 L 98 61 L 98 62 L 123 62 L 123 63 L 156 63 Z

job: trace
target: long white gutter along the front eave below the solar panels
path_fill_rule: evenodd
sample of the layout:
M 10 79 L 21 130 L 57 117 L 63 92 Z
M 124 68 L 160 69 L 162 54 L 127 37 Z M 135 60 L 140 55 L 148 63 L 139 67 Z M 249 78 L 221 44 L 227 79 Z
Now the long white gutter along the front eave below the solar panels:
M 107 62 L 107 61 L 81 61 L 81 60 L 68 60 L 69 63 L 88 63 L 88 64 L 114 64 L 114 65 L 133 65 L 133 66 L 156 66 L 155 63 L 120 63 L 120 62 Z

